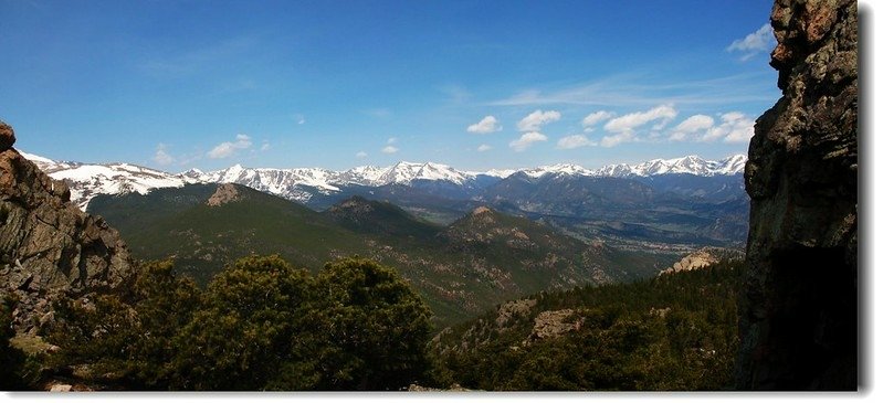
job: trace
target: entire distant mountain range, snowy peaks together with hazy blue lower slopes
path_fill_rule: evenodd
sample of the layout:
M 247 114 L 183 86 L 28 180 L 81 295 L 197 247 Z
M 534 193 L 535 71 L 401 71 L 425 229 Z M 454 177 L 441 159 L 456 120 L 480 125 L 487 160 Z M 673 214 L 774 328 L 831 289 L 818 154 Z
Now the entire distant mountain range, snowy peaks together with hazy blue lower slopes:
M 630 250 L 688 251 L 735 246 L 747 237 L 748 199 L 739 172 L 745 156 L 707 161 L 695 156 L 589 170 L 555 165 L 519 171 L 463 172 L 438 163 L 399 162 L 347 171 L 251 169 L 172 176 L 130 165 L 55 162 L 83 208 L 99 193 L 147 193 L 185 183 L 232 182 L 325 210 L 358 195 L 396 204 L 446 225 L 481 205 L 543 221 L 584 240 Z

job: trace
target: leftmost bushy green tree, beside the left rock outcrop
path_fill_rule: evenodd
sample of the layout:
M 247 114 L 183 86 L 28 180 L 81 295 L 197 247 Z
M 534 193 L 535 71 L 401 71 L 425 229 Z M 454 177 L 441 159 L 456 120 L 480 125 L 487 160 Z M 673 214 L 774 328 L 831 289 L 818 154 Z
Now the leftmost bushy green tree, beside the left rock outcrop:
M 171 262 L 145 263 L 130 289 L 56 301 L 49 341 L 62 349 L 50 362 L 123 388 L 165 389 L 175 375 L 174 337 L 199 306 L 199 289 L 177 278 Z

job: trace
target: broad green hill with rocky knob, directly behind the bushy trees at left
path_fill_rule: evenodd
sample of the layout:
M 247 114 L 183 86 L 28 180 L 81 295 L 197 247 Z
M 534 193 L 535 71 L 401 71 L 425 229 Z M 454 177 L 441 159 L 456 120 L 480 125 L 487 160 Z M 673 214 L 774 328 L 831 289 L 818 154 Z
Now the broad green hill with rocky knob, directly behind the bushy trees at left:
M 354 233 L 313 210 L 248 187 L 227 187 L 235 197 L 217 205 L 209 200 L 224 185 L 190 184 L 102 195 L 91 209 L 118 226 L 136 256 L 174 256 L 178 268 L 200 284 L 248 254 L 280 254 L 318 267 L 330 257 L 366 251 Z

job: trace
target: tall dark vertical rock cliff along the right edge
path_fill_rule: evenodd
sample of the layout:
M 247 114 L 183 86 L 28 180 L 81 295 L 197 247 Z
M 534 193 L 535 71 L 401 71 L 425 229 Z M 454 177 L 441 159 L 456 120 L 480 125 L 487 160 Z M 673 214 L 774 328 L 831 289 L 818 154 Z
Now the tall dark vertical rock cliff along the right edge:
M 777 0 L 782 97 L 755 126 L 737 386 L 858 388 L 858 3 Z

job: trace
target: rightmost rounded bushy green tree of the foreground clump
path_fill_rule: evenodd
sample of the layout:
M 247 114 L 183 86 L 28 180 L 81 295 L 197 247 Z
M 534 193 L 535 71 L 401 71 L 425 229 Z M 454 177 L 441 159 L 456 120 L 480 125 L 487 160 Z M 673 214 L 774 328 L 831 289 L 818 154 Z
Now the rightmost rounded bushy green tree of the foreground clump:
M 365 258 L 326 264 L 312 318 L 322 350 L 320 389 L 397 390 L 429 369 L 430 311 L 392 269 Z

